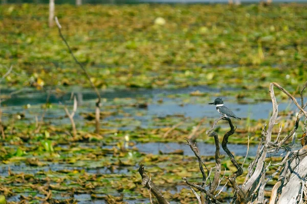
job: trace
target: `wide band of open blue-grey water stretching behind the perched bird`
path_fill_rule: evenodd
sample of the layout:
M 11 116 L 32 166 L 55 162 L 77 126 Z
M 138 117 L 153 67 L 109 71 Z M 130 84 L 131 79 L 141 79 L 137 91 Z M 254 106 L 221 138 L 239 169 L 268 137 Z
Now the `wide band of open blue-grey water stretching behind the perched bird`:
M 206 97 L 207 100 L 203 100 L 203 103 L 200 103 L 196 100 L 196 98 L 200 98 L 201 96 L 191 96 L 190 103 L 185 103 L 184 99 L 187 96 L 180 96 L 180 94 L 189 94 L 193 91 L 199 90 L 200 92 L 210 93 L 213 95 L 218 93 L 218 89 L 212 89 L 208 87 L 189 87 L 189 88 L 181 88 L 181 89 L 170 89 L 170 90 L 160 90 L 160 89 L 129 89 L 129 90 L 107 90 L 102 92 L 102 97 L 106 99 L 106 102 L 103 102 L 102 111 L 104 110 L 104 106 L 112 106 L 114 105 L 113 100 L 115 98 L 142 98 L 142 100 L 146 101 L 148 107 L 144 110 L 144 116 L 139 117 L 139 119 L 143 122 L 146 121 L 148 116 L 157 116 L 157 117 L 165 117 L 167 115 L 182 115 L 184 117 L 191 117 L 191 118 L 216 118 L 219 117 L 215 110 L 214 106 L 208 105 L 209 102 L 214 100 L 214 96 Z M 8 90 L 3 91 L 2 93 L 5 94 L 10 92 Z M 75 95 L 77 95 L 78 103 L 81 106 L 78 108 L 79 112 L 82 111 L 89 111 L 94 109 L 96 95 L 93 91 L 89 90 L 80 90 L 76 89 L 73 91 Z M 178 94 L 178 97 L 176 97 Z M 72 104 L 71 101 L 68 101 L 71 98 L 71 92 L 57 97 L 54 94 L 50 96 L 50 103 L 51 104 Z M 168 97 L 172 95 L 172 97 Z M 189 96 L 188 96 L 189 97 Z M 23 93 L 19 93 L 14 95 L 11 99 L 6 100 L 2 105 L 4 106 L 3 111 L 4 113 L 18 113 L 25 111 L 25 106 L 31 105 L 29 112 L 32 114 L 37 114 L 35 112 L 41 112 L 41 105 L 46 103 L 47 93 L 45 92 L 37 92 L 33 90 L 27 90 Z M 193 100 L 195 98 L 195 100 Z M 251 101 L 251 103 L 244 103 L 238 104 L 235 103 L 234 98 L 232 97 L 223 97 L 225 105 L 235 114 L 242 118 L 249 117 L 250 119 L 268 119 L 271 116 L 272 111 L 272 103 L 270 101 Z M 163 100 L 163 103 L 159 103 L 159 100 Z M 299 101 L 299 99 L 298 99 Z M 127 110 L 127 112 L 133 113 L 133 109 Z M 282 102 L 278 105 L 279 111 L 282 110 L 296 110 L 295 105 L 289 102 Z M 77 111 L 78 112 L 78 111 Z M 56 110 L 52 110 L 47 112 L 47 118 L 59 117 L 62 116 L 62 110 L 58 113 Z M 134 116 L 136 117 L 136 116 Z M 82 119 L 78 117 L 77 118 Z M 68 122 L 68 121 L 67 121 Z

